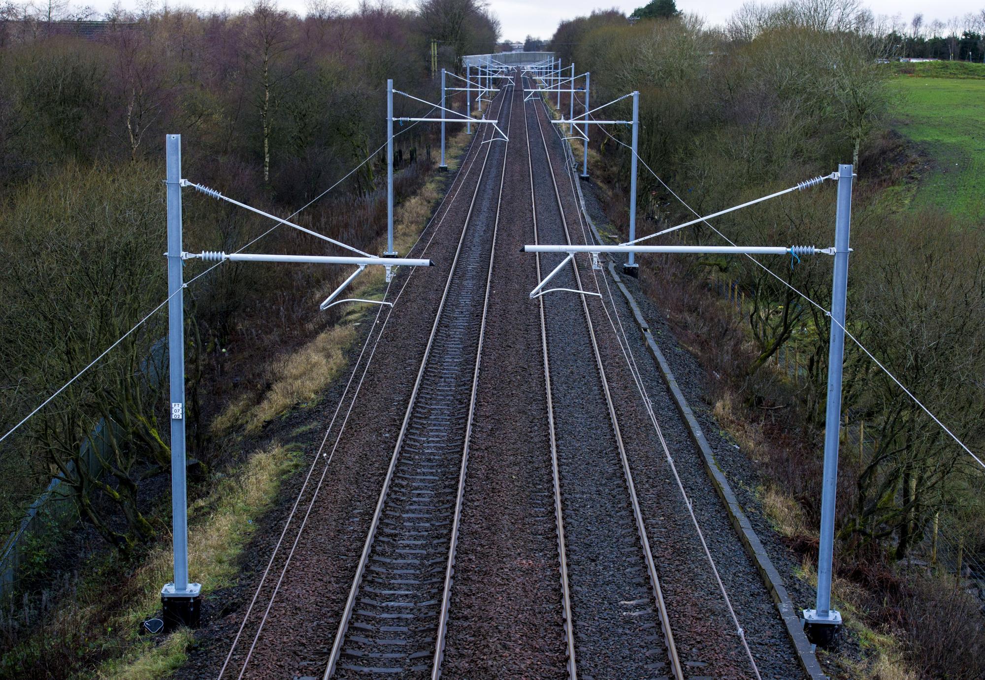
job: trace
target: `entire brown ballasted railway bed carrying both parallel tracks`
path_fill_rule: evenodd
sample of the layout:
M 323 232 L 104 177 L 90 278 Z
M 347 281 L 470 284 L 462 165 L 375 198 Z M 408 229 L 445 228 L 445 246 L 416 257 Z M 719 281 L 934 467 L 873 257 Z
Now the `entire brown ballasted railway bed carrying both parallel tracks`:
M 641 393 L 623 379 L 628 339 L 609 332 L 605 314 L 629 324 L 628 308 L 576 293 L 528 299 L 563 255 L 531 262 L 522 243 L 591 236 L 579 230 L 567 186 L 578 180 L 559 160 L 547 106 L 523 100 L 500 93 L 491 117 L 514 144 L 480 128 L 435 211 L 424 247 L 447 218 L 434 241 L 440 273 L 427 295 L 395 308 L 401 322 L 385 335 L 321 498 L 303 497 L 313 512 L 297 527 L 298 550 L 271 558 L 272 578 L 257 586 L 259 606 L 230 650 L 240 677 L 251 658 L 251 677 L 749 677 L 743 650 L 723 645 L 734 629 L 686 536 L 689 506 L 666 492 L 673 480 Z M 589 266 L 573 260 L 552 286 L 605 292 Z M 433 323 L 415 325 L 421 317 Z M 669 401 L 660 416 L 674 429 Z M 677 430 L 680 461 L 690 444 Z M 696 457 L 693 467 L 688 496 L 706 486 Z M 718 503 L 705 491 L 702 519 Z M 716 561 L 757 578 L 728 518 L 718 526 Z M 768 593 L 750 599 L 747 610 L 761 601 L 758 619 L 773 616 Z M 326 618 L 338 628 L 326 633 Z M 757 658 L 784 646 L 768 630 L 758 639 Z M 775 660 L 773 677 L 795 663 Z

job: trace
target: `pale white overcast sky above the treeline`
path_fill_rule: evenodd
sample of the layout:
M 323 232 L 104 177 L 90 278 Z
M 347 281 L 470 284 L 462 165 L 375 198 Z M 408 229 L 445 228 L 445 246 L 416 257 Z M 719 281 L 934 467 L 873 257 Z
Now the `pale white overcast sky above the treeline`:
M 120 0 L 120 4 L 128 9 L 136 9 L 138 6 L 146 4 L 148 0 Z M 152 3 L 155 0 L 150 0 Z M 634 0 L 630 2 L 614 2 L 613 0 L 547 0 L 538 3 L 530 0 L 489 0 L 493 14 L 499 18 L 502 24 L 502 37 L 507 40 L 522 40 L 528 34 L 535 37 L 549 38 L 558 28 L 558 23 L 565 19 L 590 14 L 596 8 L 618 7 L 626 14 L 632 12 L 636 7 L 645 5 L 649 0 Z M 732 13 L 738 9 L 745 0 L 677 0 L 679 10 L 697 14 L 709 24 L 724 24 Z M 114 0 L 76 0 L 73 5 L 90 5 L 98 13 L 106 12 L 113 4 Z M 161 4 L 158 0 L 157 4 Z M 248 7 L 250 0 L 169 0 L 172 6 L 191 5 L 201 10 L 223 10 L 229 9 L 236 11 Z M 305 0 L 280 0 L 280 6 L 284 9 L 292 10 L 298 14 L 304 13 Z M 341 0 L 340 4 L 353 8 L 356 0 Z M 413 0 L 394 0 L 396 5 L 410 5 L 415 3 Z M 879 15 L 899 14 L 904 23 L 909 24 L 914 14 L 922 12 L 924 14 L 924 25 L 930 24 L 934 19 L 947 21 L 950 17 L 961 16 L 969 12 L 979 12 L 985 9 L 985 0 L 951 0 L 944 6 L 929 4 L 926 0 L 870 0 L 864 2 L 866 6 Z

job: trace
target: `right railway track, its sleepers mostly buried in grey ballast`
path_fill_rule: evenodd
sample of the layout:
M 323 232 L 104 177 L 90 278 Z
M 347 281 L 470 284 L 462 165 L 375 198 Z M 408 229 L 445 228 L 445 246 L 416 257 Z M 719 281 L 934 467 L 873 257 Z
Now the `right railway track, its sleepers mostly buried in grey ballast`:
M 526 110 L 524 115 L 534 236 L 538 242 L 544 238 L 570 243 L 547 137 L 536 109 L 543 103 L 538 102 L 532 100 L 530 107 L 541 141 L 537 152 L 538 145 L 531 146 Z M 535 181 L 544 175 L 535 172 L 535 157 L 537 165 L 546 166 L 551 175 L 548 186 L 542 180 L 539 187 Z M 557 266 L 561 257 L 542 259 L 538 255 L 538 278 Z M 556 285 L 583 290 L 577 259 L 571 261 L 569 270 L 558 274 Z M 669 675 L 683 680 L 587 297 L 561 293 L 549 301 L 540 298 L 539 306 L 569 677 L 576 678 L 580 670 L 598 677 Z M 580 307 L 586 333 L 565 332 L 579 313 L 576 307 Z M 595 372 L 587 369 L 591 366 Z M 556 400 L 563 404 L 557 412 Z M 602 420 L 608 421 L 608 428 L 601 428 Z M 583 428 L 590 422 L 599 423 L 600 429 L 585 445 L 574 433 L 579 425 Z M 622 489 L 617 489 L 620 477 Z M 565 479 L 571 483 L 565 484 Z M 662 636 L 655 630 L 658 626 Z

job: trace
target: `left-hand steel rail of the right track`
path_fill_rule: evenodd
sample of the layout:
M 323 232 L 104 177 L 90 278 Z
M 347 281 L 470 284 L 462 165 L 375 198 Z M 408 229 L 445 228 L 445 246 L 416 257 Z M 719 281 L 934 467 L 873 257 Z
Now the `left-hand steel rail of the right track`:
M 526 76 L 522 76 L 525 78 Z M 536 105 L 536 104 L 535 104 Z M 530 152 L 530 127 L 527 124 L 527 107 L 524 101 L 523 130 L 527 139 L 527 167 L 530 170 L 530 209 L 534 218 L 534 242 L 537 236 L 537 199 L 534 194 L 534 159 Z M 536 256 L 537 280 L 541 280 L 541 256 Z M 560 464 L 558 463 L 558 435 L 555 427 L 554 399 L 551 395 L 551 362 L 548 356 L 548 326 L 544 312 L 544 299 L 538 298 L 541 317 L 541 355 L 544 362 L 544 388 L 547 392 L 548 433 L 551 440 L 551 476 L 554 484 L 555 522 L 558 530 L 558 571 L 560 572 L 561 606 L 564 609 L 564 642 L 567 646 L 567 677 L 578 680 L 578 665 L 574 651 L 574 617 L 571 614 L 571 586 L 567 577 L 567 547 L 564 542 L 564 511 L 560 500 Z

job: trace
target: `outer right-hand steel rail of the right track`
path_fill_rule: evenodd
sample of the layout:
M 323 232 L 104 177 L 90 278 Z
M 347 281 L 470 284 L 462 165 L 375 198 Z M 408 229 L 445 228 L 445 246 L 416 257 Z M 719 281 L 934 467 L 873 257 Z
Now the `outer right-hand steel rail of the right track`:
M 543 106 L 543 100 L 541 100 Z M 545 115 L 548 115 L 547 108 L 544 107 Z M 537 103 L 534 103 L 534 112 L 537 115 Z M 571 243 L 571 235 L 567 228 L 567 219 L 564 217 L 564 204 L 560 199 L 560 191 L 558 190 L 558 179 L 554 173 L 554 163 L 551 161 L 551 152 L 548 148 L 547 136 L 544 134 L 544 127 L 541 124 L 541 117 L 537 115 L 537 127 L 541 133 L 541 140 L 544 143 L 544 152 L 547 157 L 548 168 L 551 170 L 551 181 L 555 189 L 555 197 L 558 199 L 558 212 L 560 213 L 561 225 L 564 229 L 564 238 L 568 243 Z M 538 257 L 540 255 L 538 254 Z M 571 270 L 574 274 L 575 282 L 577 283 L 578 290 L 584 290 L 581 285 L 581 276 L 578 272 L 577 261 L 571 260 Z M 616 442 L 619 448 L 620 460 L 623 463 L 623 473 L 626 484 L 626 490 L 629 494 L 629 501 L 632 507 L 633 518 L 636 522 L 636 533 L 639 537 L 639 542 L 643 548 L 643 557 L 646 561 L 646 569 L 649 573 L 650 582 L 653 588 L 653 597 L 656 600 L 658 615 L 660 617 L 660 627 L 663 629 L 664 642 L 667 646 L 667 654 L 669 657 L 671 670 L 674 677 L 677 680 L 684 680 L 684 670 L 681 666 L 681 659 L 678 655 L 677 646 L 674 643 L 674 634 L 671 631 L 670 618 L 667 614 L 667 606 L 664 603 L 663 590 L 660 587 L 660 578 L 657 576 L 656 563 L 653 560 L 653 553 L 650 550 L 650 541 L 646 534 L 646 526 L 643 523 L 643 514 L 639 508 L 639 500 L 636 497 L 636 487 L 632 481 L 632 471 L 629 468 L 629 459 L 625 453 L 625 446 L 623 442 L 623 435 L 619 426 L 619 418 L 616 414 L 616 406 L 613 402 L 612 393 L 609 390 L 609 381 L 606 378 L 605 367 L 602 362 L 602 354 L 599 351 L 599 345 L 595 337 L 595 327 L 592 321 L 591 311 L 588 307 L 588 297 L 580 296 L 581 306 L 584 311 L 585 324 L 588 327 L 588 334 L 592 344 L 592 352 L 595 355 L 595 364 L 598 369 L 599 379 L 602 383 L 602 390 L 606 395 L 606 404 L 609 409 L 609 418 L 613 427 L 613 434 L 615 435 Z M 543 303 L 542 303 L 543 306 Z

